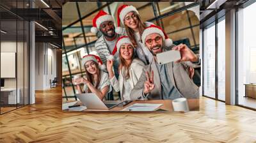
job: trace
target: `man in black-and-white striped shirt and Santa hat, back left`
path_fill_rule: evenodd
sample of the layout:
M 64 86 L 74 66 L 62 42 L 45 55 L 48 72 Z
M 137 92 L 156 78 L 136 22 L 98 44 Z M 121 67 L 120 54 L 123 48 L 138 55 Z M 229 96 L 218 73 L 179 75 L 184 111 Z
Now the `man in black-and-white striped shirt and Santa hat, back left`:
M 100 36 L 95 43 L 97 53 L 105 65 L 108 59 L 113 59 L 115 76 L 118 78 L 119 57 L 118 54 L 115 54 L 114 56 L 111 56 L 111 54 L 115 48 L 116 40 L 120 35 L 115 33 L 113 17 L 103 10 L 100 10 L 93 18 L 92 33 L 97 33 L 98 29 L 102 33 L 102 36 Z

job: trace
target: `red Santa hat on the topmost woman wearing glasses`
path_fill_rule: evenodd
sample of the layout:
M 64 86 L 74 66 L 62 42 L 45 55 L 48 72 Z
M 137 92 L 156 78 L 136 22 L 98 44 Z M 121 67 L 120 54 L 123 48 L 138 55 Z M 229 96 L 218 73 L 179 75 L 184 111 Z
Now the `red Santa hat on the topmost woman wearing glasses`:
M 117 26 L 118 27 L 116 27 L 115 29 L 117 34 L 123 33 L 123 29 L 122 27 L 120 27 L 120 22 L 122 22 L 122 24 L 124 25 L 125 15 L 127 15 L 127 13 L 131 11 L 134 11 L 135 13 L 139 14 L 138 10 L 136 10 L 134 6 L 129 6 L 127 4 L 124 4 L 118 8 L 117 10 Z

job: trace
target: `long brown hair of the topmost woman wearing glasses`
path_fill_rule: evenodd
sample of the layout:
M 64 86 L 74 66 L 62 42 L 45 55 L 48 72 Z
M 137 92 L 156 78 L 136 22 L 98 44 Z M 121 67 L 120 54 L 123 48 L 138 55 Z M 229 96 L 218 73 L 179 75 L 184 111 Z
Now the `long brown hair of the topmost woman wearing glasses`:
M 139 33 L 140 33 L 140 35 L 142 35 L 144 29 L 147 26 L 144 22 L 142 22 L 140 15 L 138 15 L 135 12 L 133 12 L 133 13 L 134 13 L 134 15 L 136 16 L 136 18 L 138 20 Z M 132 45 L 134 45 L 134 47 L 137 47 L 137 41 L 136 41 L 136 38 L 135 38 L 135 35 L 134 35 L 134 31 L 130 27 L 126 26 L 125 24 L 124 24 L 124 27 L 125 27 L 125 31 L 127 33 L 127 36 L 129 36 L 129 39 L 132 42 Z

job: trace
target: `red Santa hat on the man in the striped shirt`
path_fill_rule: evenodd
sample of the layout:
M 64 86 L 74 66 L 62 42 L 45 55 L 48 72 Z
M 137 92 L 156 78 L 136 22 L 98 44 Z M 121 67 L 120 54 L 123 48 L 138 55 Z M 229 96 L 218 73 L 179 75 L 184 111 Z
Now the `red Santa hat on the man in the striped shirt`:
M 106 13 L 103 10 L 100 10 L 99 13 L 93 18 L 92 20 L 92 28 L 91 28 L 91 32 L 92 33 L 97 33 L 98 29 L 100 27 L 100 24 L 102 24 L 103 22 L 106 21 L 113 21 L 114 22 L 114 18 L 109 15 L 108 13 Z

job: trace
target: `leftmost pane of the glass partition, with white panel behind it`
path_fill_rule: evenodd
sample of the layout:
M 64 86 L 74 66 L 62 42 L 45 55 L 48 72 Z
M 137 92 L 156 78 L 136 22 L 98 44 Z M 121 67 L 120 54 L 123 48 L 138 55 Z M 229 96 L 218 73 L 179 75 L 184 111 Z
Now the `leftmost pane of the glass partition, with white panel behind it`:
M 2 30 L 3 29 L 3 30 Z M 17 108 L 17 21 L 1 21 L 1 113 Z

